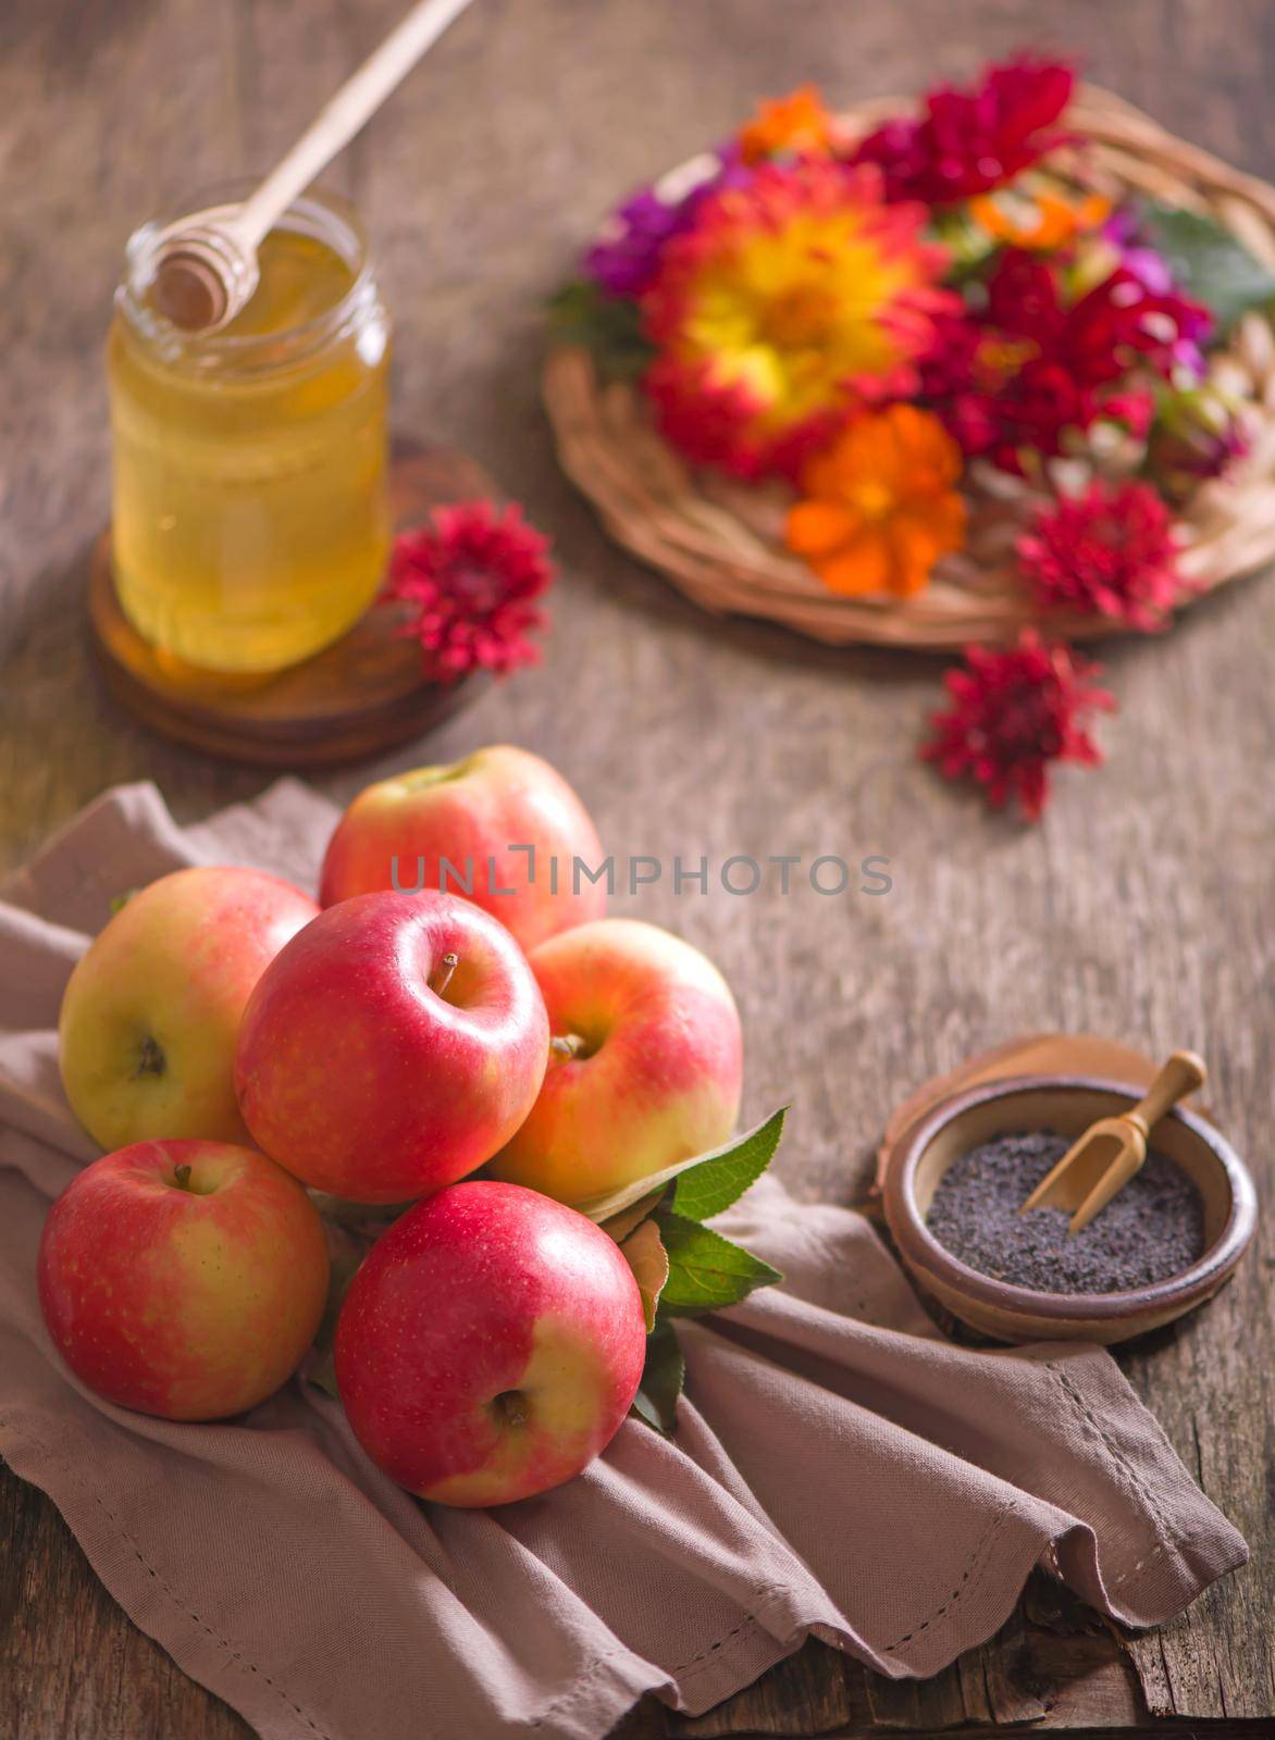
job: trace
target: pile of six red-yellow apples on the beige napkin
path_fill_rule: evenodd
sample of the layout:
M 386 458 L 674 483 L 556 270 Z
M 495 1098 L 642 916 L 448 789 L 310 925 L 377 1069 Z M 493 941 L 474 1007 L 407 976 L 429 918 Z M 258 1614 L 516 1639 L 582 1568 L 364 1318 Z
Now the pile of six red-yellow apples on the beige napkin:
M 362 792 L 322 910 L 230 867 L 120 907 L 59 1021 L 68 1100 L 113 1152 L 52 1206 L 38 1263 L 85 1385 L 171 1420 L 270 1395 L 327 1302 L 324 1192 L 413 1204 L 334 1336 L 341 1402 L 387 1474 L 489 1505 L 606 1446 L 648 1322 L 629 1262 L 571 1204 L 730 1134 L 740 1030 L 704 955 L 603 917 L 577 856 L 601 847 L 571 788 L 489 748 Z M 442 860 L 474 867 L 470 896 L 437 891 Z

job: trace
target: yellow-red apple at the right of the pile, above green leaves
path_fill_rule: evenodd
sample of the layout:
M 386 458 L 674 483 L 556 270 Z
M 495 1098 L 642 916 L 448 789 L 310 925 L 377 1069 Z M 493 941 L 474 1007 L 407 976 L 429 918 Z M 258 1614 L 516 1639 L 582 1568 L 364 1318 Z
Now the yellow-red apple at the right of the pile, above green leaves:
M 554 1041 L 540 1098 L 495 1161 L 498 1178 L 584 1202 L 730 1136 L 739 1013 L 698 948 L 636 919 L 599 919 L 528 959 Z

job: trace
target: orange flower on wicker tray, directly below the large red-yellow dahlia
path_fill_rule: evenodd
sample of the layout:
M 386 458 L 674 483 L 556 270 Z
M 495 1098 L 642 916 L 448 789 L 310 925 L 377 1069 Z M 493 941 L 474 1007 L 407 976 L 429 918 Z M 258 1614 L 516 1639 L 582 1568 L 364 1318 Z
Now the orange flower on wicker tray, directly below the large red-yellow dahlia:
M 906 599 L 965 536 L 961 452 L 916 405 L 855 418 L 801 475 L 787 545 L 833 592 Z

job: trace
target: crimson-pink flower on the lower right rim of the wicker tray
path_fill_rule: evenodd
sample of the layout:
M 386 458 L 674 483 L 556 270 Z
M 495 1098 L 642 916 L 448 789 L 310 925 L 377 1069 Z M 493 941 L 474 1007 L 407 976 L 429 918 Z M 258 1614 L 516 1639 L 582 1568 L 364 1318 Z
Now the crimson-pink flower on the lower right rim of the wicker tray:
M 1094 480 L 1042 508 L 1017 543 L 1022 574 L 1049 609 L 1162 628 L 1183 592 L 1169 508 L 1150 484 Z

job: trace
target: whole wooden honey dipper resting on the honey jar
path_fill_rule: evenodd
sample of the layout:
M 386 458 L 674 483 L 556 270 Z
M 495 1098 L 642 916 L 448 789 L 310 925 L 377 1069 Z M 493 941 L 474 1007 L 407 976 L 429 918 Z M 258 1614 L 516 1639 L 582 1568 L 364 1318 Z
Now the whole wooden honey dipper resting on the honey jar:
M 469 0 L 420 0 L 336 92 L 242 205 L 214 205 L 178 219 L 157 238 L 152 298 L 183 332 L 216 332 L 258 285 L 256 251 L 298 193 L 359 129 Z

